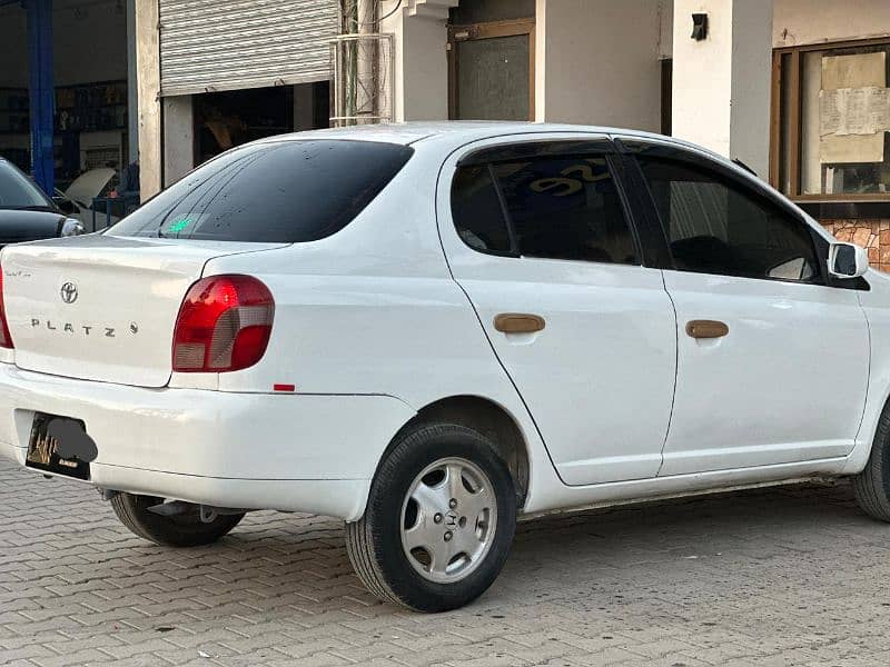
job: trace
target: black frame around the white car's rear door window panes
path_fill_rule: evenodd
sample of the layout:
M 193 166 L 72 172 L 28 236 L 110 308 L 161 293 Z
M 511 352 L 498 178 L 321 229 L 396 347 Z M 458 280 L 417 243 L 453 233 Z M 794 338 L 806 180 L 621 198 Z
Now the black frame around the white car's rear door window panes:
M 513 220 L 507 208 L 506 199 L 504 198 L 501 183 L 495 178 L 494 167 L 500 163 L 515 162 L 518 160 L 546 160 L 546 159 L 571 159 L 571 158 L 589 158 L 591 156 L 603 157 L 606 160 L 612 180 L 615 183 L 615 191 L 617 192 L 619 200 L 621 201 L 621 210 L 624 216 L 624 221 L 631 232 L 631 240 L 634 245 L 636 253 L 636 261 L 633 263 L 625 262 L 605 262 L 592 259 L 565 259 L 558 257 L 537 257 L 522 255 L 517 249 L 511 248 L 510 251 L 500 250 L 481 250 L 474 248 L 464 240 L 461 236 L 461 230 L 457 227 L 457 220 L 454 217 L 454 209 L 451 206 L 451 197 L 454 187 L 454 176 L 452 176 L 448 186 L 448 209 L 454 227 L 461 243 L 479 255 L 487 255 L 491 257 L 501 257 L 510 259 L 524 259 L 524 260 L 541 260 L 541 261 L 571 261 L 584 262 L 601 266 L 622 266 L 622 267 L 650 267 L 652 250 L 647 249 L 647 245 L 641 237 L 640 229 L 637 228 L 634 218 L 635 207 L 632 205 L 632 198 L 629 197 L 629 190 L 625 183 L 625 163 L 622 157 L 615 149 L 614 142 L 607 137 L 592 137 L 590 139 L 535 139 L 532 141 L 518 141 L 510 143 L 497 143 L 487 146 L 474 151 L 467 152 L 455 165 L 455 175 L 462 167 L 469 166 L 485 166 L 490 170 L 492 182 L 497 193 L 497 199 L 501 205 L 501 215 L 504 218 L 504 223 L 507 228 L 507 235 L 511 239 L 511 246 L 515 243 L 516 230 L 513 226 Z

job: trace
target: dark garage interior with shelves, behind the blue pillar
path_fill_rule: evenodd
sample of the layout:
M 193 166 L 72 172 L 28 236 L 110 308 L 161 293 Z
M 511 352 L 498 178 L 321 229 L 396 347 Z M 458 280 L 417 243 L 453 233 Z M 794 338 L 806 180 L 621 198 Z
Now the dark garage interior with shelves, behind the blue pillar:
M 36 36 L 34 14 L 29 20 L 32 2 L 46 10 L 39 29 L 47 43 Z M 136 159 L 126 0 L 0 0 L 0 156 L 32 171 L 32 63 L 42 61 L 49 70 L 40 72 L 42 81 L 52 88 L 51 120 L 43 122 L 51 133 L 43 130 L 51 136 L 55 187 L 63 190 L 97 167 L 119 171 Z

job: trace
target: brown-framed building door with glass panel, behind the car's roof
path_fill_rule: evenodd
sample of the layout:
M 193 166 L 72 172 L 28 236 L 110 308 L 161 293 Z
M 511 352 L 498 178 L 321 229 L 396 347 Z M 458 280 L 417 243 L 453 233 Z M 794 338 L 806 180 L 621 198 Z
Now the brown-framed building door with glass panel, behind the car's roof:
M 534 119 L 534 19 L 448 29 L 449 118 Z

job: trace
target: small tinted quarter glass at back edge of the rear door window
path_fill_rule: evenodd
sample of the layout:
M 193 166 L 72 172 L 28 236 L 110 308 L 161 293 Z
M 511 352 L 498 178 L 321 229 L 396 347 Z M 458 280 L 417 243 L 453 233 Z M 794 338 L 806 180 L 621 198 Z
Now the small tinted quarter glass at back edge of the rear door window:
M 487 165 L 461 167 L 452 183 L 452 216 L 463 241 L 482 252 L 510 252 L 504 211 Z

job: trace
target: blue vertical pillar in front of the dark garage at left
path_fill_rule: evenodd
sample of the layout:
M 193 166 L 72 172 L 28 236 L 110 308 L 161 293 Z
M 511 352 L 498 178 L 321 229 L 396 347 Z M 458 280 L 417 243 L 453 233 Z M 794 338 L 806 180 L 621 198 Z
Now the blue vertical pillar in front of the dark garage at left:
M 37 185 L 52 197 L 52 0 L 28 1 L 29 96 L 31 106 L 31 171 Z

